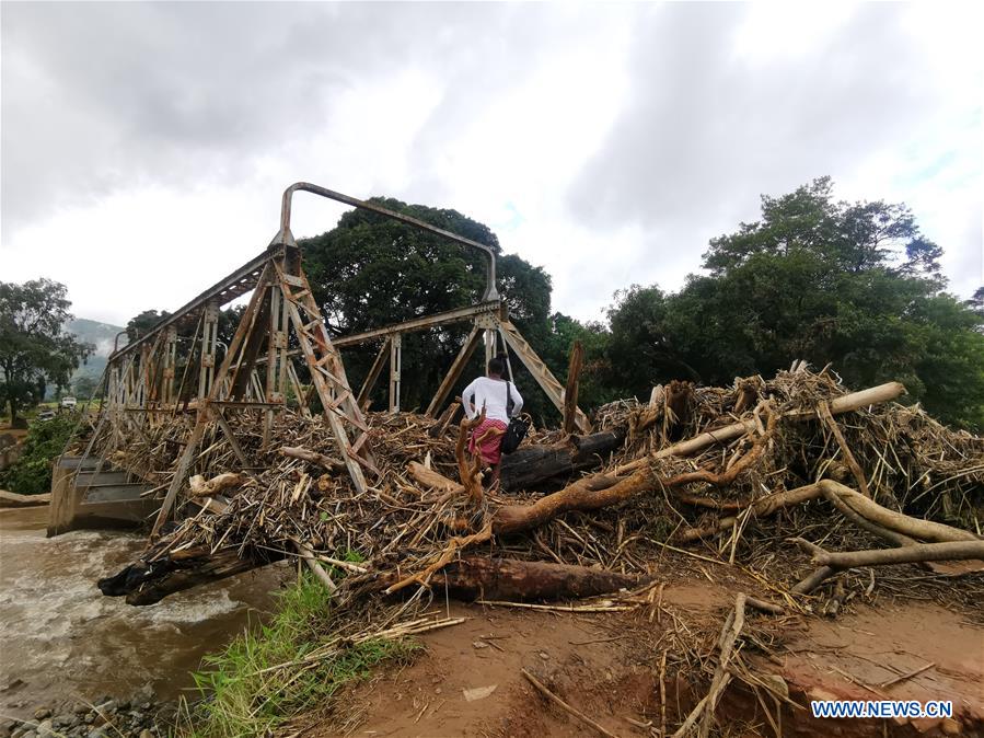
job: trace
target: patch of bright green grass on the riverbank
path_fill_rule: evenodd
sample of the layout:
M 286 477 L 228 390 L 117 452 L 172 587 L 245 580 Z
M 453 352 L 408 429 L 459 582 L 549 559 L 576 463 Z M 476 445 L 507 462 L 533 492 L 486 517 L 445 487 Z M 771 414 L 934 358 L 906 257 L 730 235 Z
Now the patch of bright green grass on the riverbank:
M 364 679 L 374 666 L 406 660 L 418 648 L 409 641 L 366 641 L 341 644 L 326 658 L 299 664 L 332 638 L 331 597 L 305 573 L 278 598 L 278 611 L 267 625 L 202 660 L 204 669 L 194 674 L 202 700 L 188 711 L 188 735 L 264 735 L 325 706 L 341 687 Z

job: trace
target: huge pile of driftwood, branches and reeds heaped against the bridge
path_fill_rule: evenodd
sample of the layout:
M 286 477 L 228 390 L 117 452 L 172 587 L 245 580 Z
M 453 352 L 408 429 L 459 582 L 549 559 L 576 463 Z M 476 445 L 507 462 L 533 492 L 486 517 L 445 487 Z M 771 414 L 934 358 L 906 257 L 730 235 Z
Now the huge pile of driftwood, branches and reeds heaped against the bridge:
M 713 706 L 740 672 L 728 644 L 746 606 L 836 614 L 870 595 L 869 567 L 882 565 L 966 575 L 948 579 L 945 597 L 984 595 L 984 576 L 968 574 L 984 569 L 984 439 L 895 403 L 903 393 L 899 383 L 849 392 L 830 369 L 801 365 L 731 388 L 671 382 L 648 403 L 601 407 L 590 436 L 534 431 L 491 488 L 465 452 L 467 423 L 451 412 L 370 414 L 380 473 L 361 494 L 322 419 L 282 413 L 264 450 L 259 414 L 243 412 L 230 423 L 265 466 L 242 469 L 212 431 L 176 522 L 100 586 L 143 604 L 293 557 L 335 592 L 339 633 L 346 619 L 364 633 L 416 622 L 435 589 L 635 610 L 652 606 L 668 555 L 727 562 L 757 591 L 736 602 L 717 666 L 706 669 L 706 649 L 699 658 Z M 163 488 L 182 423 L 148 429 L 113 461 Z M 892 591 L 931 592 L 922 579 L 895 578 Z

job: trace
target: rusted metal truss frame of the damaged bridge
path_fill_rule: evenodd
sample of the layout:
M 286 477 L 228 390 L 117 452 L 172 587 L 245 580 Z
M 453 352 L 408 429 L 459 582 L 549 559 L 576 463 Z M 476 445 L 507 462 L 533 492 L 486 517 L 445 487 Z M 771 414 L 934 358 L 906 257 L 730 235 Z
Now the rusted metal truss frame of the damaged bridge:
M 488 260 L 483 300 L 444 313 L 333 338 L 304 275 L 301 250 L 290 232 L 290 200 L 297 191 L 364 208 L 481 250 Z M 220 310 L 246 295 L 250 295 L 248 303 L 227 346 L 219 339 Z M 369 486 L 367 475 L 379 475 L 363 416 L 373 383 L 389 365 L 389 410 L 400 412 L 404 334 L 460 322 L 472 323 L 472 330 L 427 407 L 429 415 L 436 415 L 447 404 L 478 344 L 484 341 L 488 358 L 500 339 L 563 412 L 563 385 L 509 321 L 505 302 L 496 291 L 491 250 L 374 203 L 308 183 L 291 185 L 283 194 L 280 230 L 265 252 L 109 356 L 95 435 L 82 458 L 62 459 L 60 468 L 67 470 L 63 476 L 81 478 L 83 474 L 104 473 L 103 470 L 116 464 L 115 459 L 123 456 L 118 451 L 131 439 L 147 439 L 151 431 L 166 426 L 169 442 L 176 443 L 178 450 L 173 475 L 162 481 L 148 476 L 146 470 L 117 466 L 107 472 L 125 473 L 127 485 L 136 487 L 136 494 L 143 493 L 143 504 L 157 499 L 153 538 L 170 518 L 178 495 L 187 488 L 189 474 L 206 471 L 200 469 L 200 459 L 219 434 L 229 439 L 229 447 L 244 470 L 262 470 L 255 451 L 257 439 L 247 442 L 238 436 L 240 414 L 262 416 L 259 449 L 268 451 L 273 426 L 286 407 L 288 395 L 296 400 L 297 408 L 304 416 L 311 415 L 310 403 L 316 396 L 339 458 L 355 486 L 364 491 Z M 380 342 L 375 361 L 356 394 L 348 383 L 339 349 Z M 296 361 L 303 361 L 306 367 L 310 377 L 306 387 L 301 382 Z M 256 427 L 255 423 L 247 425 Z M 582 433 L 589 430 L 588 418 L 580 411 L 576 425 Z M 148 498 L 151 489 L 163 493 L 163 498 Z M 57 497 L 78 495 L 78 480 L 70 480 L 56 485 L 55 493 Z M 53 501 L 49 531 L 57 533 L 78 527 L 70 520 L 72 510 L 79 508 L 76 503 Z

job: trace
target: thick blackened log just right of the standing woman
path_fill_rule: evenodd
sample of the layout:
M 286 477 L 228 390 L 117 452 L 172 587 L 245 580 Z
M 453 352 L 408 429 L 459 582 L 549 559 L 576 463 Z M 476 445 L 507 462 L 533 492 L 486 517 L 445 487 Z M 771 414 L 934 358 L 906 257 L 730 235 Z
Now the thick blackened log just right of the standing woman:
M 589 436 L 572 436 L 556 446 L 524 446 L 502 457 L 499 484 L 516 492 L 535 489 L 555 477 L 567 477 L 605 462 L 609 453 L 622 446 L 625 429 L 605 430 Z

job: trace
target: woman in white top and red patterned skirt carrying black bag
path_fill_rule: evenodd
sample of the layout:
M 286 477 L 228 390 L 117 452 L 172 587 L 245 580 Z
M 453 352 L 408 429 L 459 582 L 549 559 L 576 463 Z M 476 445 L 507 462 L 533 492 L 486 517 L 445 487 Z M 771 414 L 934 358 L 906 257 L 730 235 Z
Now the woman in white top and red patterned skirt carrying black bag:
M 499 480 L 501 443 L 509 425 L 509 411 L 512 416 L 517 416 L 523 408 L 522 395 L 516 384 L 502 379 L 505 372 L 506 359 L 497 356 L 488 362 L 488 376 L 475 379 L 461 394 L 465 416 L 470 420 L 485 408 L 485 420 L 472 430 L 468 451 L 479 454 L 482 462 L 493 468 L 493 483 Z

